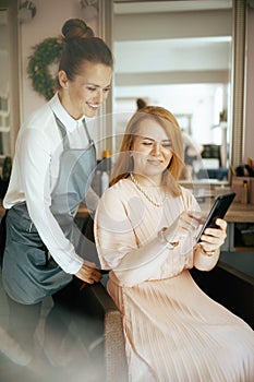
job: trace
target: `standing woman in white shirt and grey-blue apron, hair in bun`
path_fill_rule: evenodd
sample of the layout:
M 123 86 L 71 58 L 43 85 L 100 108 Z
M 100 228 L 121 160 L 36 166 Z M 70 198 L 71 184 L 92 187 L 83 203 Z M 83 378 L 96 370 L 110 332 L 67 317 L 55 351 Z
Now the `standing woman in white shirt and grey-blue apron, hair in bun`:
M 33 343 L 45 297 L 64 291 L 73 276 L 88 284 L 100 279 L 89 253 L 75 243 L 74 216 L 96 164 L 86 121 L 107 99 L 112 55 L 81 20 L 69 20 L 62 34 L 59 91 L 21 127 L 3 200 L 2 283 L 11 334 L 25 345 Z

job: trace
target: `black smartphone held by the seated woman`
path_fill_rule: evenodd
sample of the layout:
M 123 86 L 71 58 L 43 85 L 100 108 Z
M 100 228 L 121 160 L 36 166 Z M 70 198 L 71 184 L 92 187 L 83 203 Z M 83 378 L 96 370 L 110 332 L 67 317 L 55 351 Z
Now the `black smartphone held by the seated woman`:
M 202 226 L 199 234 L 197 235 L 196 242 L 201 241 L 201 237 L 204 230 L 207 227 L 217 228 L 218 226 L 215 224 L 217 217 L 223 218 L 230 204 L 232 203 L 235 196 L 235 192 L 230 192 L 223 195 L 219 195 L 210 208 L 209 215 L 207 216 L 205 223 Z

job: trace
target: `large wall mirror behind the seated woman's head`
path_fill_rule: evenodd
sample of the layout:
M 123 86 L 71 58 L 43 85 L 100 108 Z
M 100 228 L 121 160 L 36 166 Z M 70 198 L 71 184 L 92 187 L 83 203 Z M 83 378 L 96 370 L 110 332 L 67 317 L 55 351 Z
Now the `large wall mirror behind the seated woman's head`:
M 192 164 L 192 181 L 230 181 L 230 164 L 242 155 L 243 3 L 111 2 L 114 152 L 141 97 L 172 111 L 199 147 L 202 165 Z

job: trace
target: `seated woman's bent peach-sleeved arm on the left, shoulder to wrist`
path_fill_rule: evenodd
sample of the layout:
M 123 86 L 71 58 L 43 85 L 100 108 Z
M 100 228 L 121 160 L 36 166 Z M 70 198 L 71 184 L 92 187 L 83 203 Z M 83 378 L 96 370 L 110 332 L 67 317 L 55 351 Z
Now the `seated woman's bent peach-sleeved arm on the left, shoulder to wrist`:
M 157 236 L 140 246 L 129 214 L 121 194 L 107 190 L 95 215 L 95 240 L 101 267 L 113 270 L 121 285 L 131 287 L 153 277 L 173 250 Z

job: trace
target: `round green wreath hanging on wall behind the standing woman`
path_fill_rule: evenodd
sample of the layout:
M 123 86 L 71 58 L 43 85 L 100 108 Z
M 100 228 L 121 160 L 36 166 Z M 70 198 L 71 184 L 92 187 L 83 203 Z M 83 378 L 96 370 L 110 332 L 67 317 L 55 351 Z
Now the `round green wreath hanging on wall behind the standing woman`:
M 49 100 L 56 93 L 56 80 L 50 74 L 49 65 L 60 60 L 62 40 L 46 38 L 33 49 L 34 53 L 28 57 L 27 73 L 32 79 L 33 88 Z

